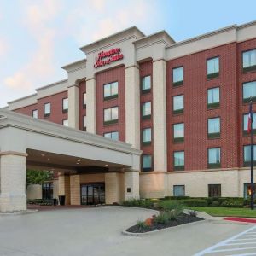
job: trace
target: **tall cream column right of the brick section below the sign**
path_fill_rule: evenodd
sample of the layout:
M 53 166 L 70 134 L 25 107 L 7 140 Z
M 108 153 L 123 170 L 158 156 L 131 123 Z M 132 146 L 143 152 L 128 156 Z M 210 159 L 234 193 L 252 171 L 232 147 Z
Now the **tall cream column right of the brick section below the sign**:
M 125 142 L 140 149 L 140 78 L 136 66 L 125 68 Z

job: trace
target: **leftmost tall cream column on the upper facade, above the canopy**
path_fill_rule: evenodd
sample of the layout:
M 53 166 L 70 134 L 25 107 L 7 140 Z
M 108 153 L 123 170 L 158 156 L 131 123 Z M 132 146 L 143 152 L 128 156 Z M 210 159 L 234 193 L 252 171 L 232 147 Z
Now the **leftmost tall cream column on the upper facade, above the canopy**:
M 79 129 L 79 86 L 68 87 L 68 126 Z

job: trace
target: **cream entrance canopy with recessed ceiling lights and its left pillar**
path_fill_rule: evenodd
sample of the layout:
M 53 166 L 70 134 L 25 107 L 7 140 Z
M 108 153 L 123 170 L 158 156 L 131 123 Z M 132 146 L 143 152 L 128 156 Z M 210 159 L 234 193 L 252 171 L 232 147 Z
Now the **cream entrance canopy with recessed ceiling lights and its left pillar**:
M 140 154 L 127 143 L 1 109 L 0 211 L 26 208 L 26 167 L 69 173 L 138 172 Z

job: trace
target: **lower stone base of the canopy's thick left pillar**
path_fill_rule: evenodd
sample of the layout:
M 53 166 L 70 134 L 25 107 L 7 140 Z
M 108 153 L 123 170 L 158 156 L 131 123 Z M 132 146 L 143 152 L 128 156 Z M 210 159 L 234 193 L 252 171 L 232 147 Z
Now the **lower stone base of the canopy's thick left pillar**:
M 26 194 L 24 195 L 0 195 L 0 212 L 14 212 L 26 210 Z

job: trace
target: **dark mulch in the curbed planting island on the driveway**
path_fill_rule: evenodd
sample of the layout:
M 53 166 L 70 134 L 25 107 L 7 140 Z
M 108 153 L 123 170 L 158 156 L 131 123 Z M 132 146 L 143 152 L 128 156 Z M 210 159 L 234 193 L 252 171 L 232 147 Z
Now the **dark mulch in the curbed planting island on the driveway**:
M 131 226 L 126 231 L 131 232 L 131 233 L 146 233 L 148 231 L 162 230 L 162 229 L 175 227 L 175 226 L 182 225 L 182 224 L 187 224 L 187 223 L 199 221 L 199 220 L 202 220 L 202 219 L 203 218 L 198 218 L 198 217 L 190 216 L 190 215 L 185 214 L 185 213 L 181 213 L 177 217 L 176 220 L 170 220 L 166 224 L 153 223 L 151 226 L 146 226 L 145 228 L 141 228 L 141 227 L 139 227 L 139 225 L 136 224 L 134 226 Z

